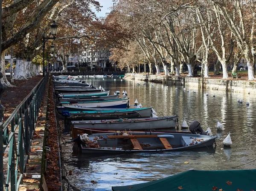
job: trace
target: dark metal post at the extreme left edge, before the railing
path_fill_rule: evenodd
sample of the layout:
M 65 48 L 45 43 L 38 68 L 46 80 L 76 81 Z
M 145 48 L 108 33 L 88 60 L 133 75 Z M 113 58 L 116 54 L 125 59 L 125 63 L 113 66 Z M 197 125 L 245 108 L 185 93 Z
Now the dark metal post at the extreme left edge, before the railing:
M 1 54 L 1 53 L 0 53 Z M 0 68 L 0 80 L 3 78 L 3 74 L 1 72 Z M 0 81 L 0 172 L 2 174 L 2 177 L 0 178 L 0 191 L 3 191 L 3 111 L 4 107 L 1 104 L 1 97 L 3 95 L 3 92 L 5 91 L 6 86 L 4 86 Z

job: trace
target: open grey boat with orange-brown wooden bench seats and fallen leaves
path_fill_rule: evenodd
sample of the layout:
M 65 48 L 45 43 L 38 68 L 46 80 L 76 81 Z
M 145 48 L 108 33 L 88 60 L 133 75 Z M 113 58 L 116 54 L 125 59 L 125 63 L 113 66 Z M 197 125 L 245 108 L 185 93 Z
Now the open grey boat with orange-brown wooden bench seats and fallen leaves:
M 211 148 L 217 136 L 161 132 L 128 132 L 84 135 L 79 142 L 85 154 L 187 151 Z

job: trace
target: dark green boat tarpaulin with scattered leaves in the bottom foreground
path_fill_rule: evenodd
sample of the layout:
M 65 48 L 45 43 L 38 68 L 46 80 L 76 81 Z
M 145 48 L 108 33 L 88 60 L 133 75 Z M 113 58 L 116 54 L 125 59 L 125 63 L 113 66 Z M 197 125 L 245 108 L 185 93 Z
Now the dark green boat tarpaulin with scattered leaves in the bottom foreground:
M 256 190 L 256 169 L 190 170 L 151 182 L 112 187 L 113 191 L 219 191 L 220 189 L 222 191 Z

